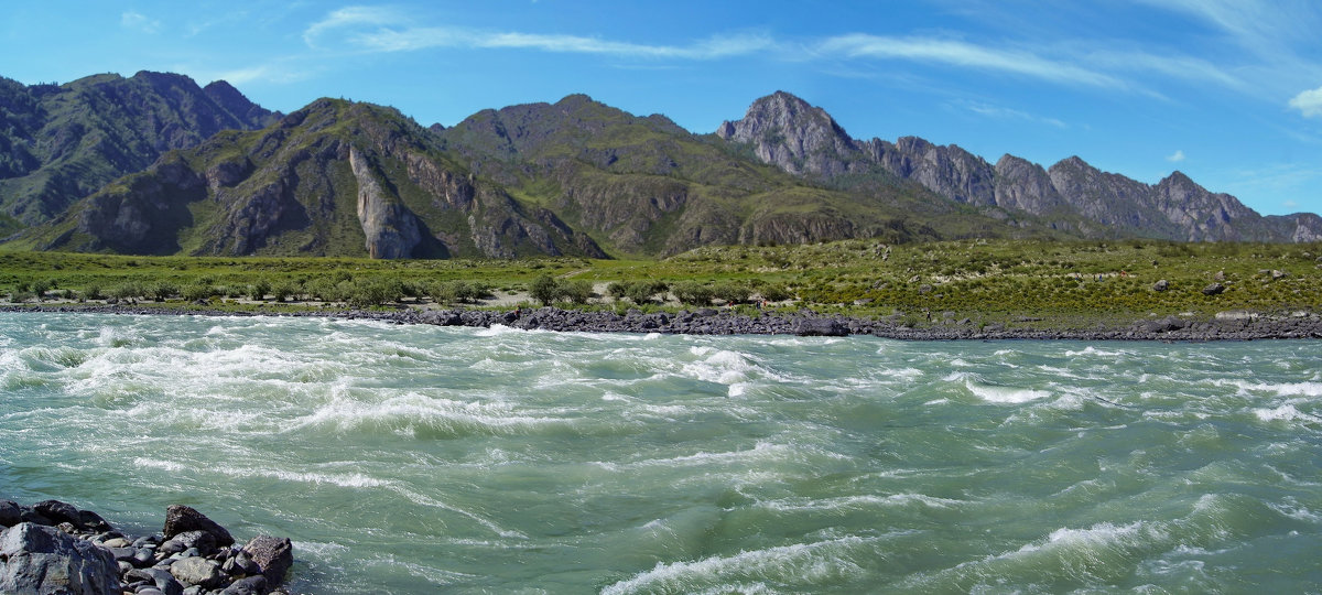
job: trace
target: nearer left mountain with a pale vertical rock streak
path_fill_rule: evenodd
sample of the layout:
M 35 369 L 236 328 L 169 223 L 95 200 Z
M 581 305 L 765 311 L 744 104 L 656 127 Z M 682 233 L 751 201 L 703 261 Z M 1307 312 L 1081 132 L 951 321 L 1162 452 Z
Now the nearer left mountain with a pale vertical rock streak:
M 319 99 L 107 185 L 16 243 L 130 254 L 603 257 L 446 157 L 398 111 Z

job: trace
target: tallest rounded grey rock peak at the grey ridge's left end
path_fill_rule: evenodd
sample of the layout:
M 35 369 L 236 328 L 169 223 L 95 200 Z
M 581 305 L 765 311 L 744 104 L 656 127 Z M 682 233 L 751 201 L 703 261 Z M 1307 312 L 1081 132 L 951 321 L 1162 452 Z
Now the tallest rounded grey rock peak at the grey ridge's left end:
M 759 159 L 795 175 L 845 173 L 859 152 L 825 110 L 785 91 L 755 100 L 743 119 L 722 123 L 717 136 L 751 144 Z

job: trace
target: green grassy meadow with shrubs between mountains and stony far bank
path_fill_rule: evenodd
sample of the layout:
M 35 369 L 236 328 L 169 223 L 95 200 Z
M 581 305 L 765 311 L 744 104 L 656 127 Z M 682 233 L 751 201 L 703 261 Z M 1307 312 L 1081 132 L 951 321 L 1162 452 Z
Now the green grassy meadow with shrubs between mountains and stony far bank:
M 1165 283 L 1159 283 L 1165 282 Z M 1220 286 L 1215 295 L 1204 292 Z M 1163 288 L 1161 288 L 1163 287 Z M 1322 245 L 958 241 L 705 247 L 662 260 L 369 260 L 0 253 L 11 303 L 235 309 L 557 303 L 768 307 L 1010 325 L 1322 311 Z

